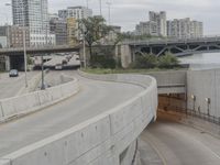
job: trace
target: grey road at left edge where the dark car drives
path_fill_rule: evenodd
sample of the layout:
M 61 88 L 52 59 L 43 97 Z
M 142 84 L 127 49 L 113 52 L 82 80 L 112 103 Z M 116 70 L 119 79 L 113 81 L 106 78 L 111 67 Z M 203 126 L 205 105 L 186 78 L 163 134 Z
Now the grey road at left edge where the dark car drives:
M 21 88 L 25 86 L 24 73 L 19 74 L 19 77 L 9 77 L 8 73 L 0 74 L 0 99 L 16 96 Z M 28 80 L 36 74 L 37 72 L 28 73 Z

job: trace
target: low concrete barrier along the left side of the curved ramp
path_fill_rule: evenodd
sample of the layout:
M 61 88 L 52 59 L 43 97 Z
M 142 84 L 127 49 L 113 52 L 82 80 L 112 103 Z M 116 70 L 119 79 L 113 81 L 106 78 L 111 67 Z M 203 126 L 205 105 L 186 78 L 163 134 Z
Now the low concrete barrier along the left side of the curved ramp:
M 47 88 L 22 96 L 0 100 L 0 121 L 23 116 L 58 102 L 78 92 L 79 85 L 77 79 L 69 82 Z

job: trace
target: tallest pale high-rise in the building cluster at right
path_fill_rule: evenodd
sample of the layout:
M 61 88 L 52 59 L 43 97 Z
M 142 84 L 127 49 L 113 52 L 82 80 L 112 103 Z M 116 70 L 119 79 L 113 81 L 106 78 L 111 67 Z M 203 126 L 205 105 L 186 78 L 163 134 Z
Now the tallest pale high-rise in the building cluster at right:
M 157 34 L 161 36 L 167 36 L 167 30 L 166 30 L 166 12 L 148 12 L 148 19 L 150 22 L 155 22 L 157 25 Z

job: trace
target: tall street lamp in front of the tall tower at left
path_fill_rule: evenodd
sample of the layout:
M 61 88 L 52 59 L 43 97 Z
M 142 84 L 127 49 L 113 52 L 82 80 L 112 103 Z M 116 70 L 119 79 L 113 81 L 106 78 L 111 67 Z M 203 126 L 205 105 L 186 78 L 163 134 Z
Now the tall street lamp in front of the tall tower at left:
M 7 7 L 13 7 L 11 3 L 6 3 Z M 24 3 L 19 3 L 19 7 L 22 9 L 22 26 L 23 26 L 23 52 L 24 52 L 24 73 L 25 73 L 25 87 L 28 88 L 28 76 L 26 76 L 26 32 L 25 32 L 25 16 L 24 16 Z

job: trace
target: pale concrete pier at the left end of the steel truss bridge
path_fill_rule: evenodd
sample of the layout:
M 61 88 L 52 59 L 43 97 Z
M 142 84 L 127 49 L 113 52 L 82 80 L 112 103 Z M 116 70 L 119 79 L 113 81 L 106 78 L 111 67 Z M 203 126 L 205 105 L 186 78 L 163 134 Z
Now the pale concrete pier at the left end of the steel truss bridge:
M 132 63 L 132 51 L 130 45 L 121 45 L 121 64 L 123 68 L 128 68 Z

